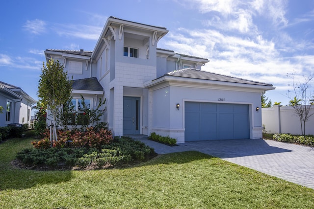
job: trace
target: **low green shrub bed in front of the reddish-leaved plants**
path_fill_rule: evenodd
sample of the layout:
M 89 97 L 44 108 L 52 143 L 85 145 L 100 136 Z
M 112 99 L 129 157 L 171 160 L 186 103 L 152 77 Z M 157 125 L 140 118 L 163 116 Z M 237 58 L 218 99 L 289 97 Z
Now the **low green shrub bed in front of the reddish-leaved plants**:
M 68 139 L 71 133 L 62 132 L 61 135 L 63 136 L 62 140 L 64 140 Z M 100 133 L 99 135 L 101 136 L 102 134 Z M 92 166 L 103 168 L 142 162 L 156 156 L 153 148 L 145 145 L 143 142 L 126 137 L 115 137 L 114 140 L 94 147 L 50 147 L 51 142 L 48 138 L 32 142 L 32 144 L 35 148 L 41 149 L 22 150 L 18 153 L 17 159 L 28 166 L 36 167 L 70 168 L 71 166 L 76 166 L 78 169 L 84 169 Z

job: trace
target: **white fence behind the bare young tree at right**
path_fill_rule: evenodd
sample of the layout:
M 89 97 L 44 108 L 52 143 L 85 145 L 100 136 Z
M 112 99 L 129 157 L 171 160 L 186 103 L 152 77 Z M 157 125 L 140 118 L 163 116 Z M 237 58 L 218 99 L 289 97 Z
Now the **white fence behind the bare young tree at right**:
M 314 106 L 310 114 L 314 113 Z M 274 105 L 269 108 L 262 108 L 262 124 L 269 134 L 293 134 L 301 135 L 301 123 L 299 116 L 291 106 Z M 314 115 L 305 123 L 305 134 L 314 135 Z

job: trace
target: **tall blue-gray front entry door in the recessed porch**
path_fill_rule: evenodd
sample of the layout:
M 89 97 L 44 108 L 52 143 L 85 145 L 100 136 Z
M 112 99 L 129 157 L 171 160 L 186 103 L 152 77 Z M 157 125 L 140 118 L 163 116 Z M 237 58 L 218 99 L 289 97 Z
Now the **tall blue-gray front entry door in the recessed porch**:
M 139 97 L 123 97 L 123 135 L 140 134 L 139 106 Z

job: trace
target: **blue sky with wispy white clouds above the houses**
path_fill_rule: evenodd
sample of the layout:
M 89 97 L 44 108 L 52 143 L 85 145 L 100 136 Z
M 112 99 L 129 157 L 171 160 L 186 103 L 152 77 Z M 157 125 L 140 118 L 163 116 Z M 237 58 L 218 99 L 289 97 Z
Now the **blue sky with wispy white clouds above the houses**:
M 93 50 L 109 16 L 166 27 L 158 47 L 208 58 L 203 70 L 271 83 L 273 103 L 290 100 L 287 73 L 314 73 L 313 0 L 7 0 L 0 81 L 37 100 L 43 51 Z

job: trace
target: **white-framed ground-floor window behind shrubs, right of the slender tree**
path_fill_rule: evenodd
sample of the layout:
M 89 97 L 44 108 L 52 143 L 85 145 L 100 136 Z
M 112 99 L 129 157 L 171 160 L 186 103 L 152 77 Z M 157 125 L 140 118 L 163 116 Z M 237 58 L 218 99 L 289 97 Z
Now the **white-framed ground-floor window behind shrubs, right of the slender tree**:
M 73 98 L 72 106 L 75 112 L 72 112 L 71 123 L 69 125 L 89 125 L 89 116 L 85 112 L 86 109 L 90 110 L 92 107 L 91 99 L 84 99 L 85 108 L 81 98 Z

